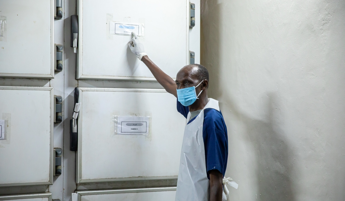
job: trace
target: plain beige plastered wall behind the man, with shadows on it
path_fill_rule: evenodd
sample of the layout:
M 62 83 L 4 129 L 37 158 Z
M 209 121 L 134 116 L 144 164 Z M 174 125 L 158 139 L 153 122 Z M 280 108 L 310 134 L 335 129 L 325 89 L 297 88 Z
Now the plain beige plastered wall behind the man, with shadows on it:
M 345 1 L 201 0 L 233 200 L 345 200 Z

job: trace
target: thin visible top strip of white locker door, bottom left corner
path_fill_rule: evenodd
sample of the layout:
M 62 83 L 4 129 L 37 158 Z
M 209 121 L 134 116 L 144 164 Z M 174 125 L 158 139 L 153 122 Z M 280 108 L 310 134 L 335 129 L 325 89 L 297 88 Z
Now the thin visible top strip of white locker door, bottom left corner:
M 0 195 L 0 200 L 4 201 L 51 201 L 51 193 L 31 193 L 19 195 Z

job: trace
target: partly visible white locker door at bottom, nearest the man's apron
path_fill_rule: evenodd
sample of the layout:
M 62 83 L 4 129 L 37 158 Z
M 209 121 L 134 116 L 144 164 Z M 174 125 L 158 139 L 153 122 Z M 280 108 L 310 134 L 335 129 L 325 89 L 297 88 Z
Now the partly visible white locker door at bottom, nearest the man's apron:
M 78 201 L 175 201 L 176 187 L 77 191 Z

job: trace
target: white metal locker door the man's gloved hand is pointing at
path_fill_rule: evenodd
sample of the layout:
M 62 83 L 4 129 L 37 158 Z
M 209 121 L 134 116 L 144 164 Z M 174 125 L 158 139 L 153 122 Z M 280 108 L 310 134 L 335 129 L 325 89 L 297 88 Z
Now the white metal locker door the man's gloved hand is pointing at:
M 109 21 L 145 24 L 145 51 L 175 78 L 188 64 L 189 1 L 79 0 L 77 79 L 154 80 L 131 53 L 131 36 L 109 35 Z M 108 14 L 108 15 L 107 15 Z

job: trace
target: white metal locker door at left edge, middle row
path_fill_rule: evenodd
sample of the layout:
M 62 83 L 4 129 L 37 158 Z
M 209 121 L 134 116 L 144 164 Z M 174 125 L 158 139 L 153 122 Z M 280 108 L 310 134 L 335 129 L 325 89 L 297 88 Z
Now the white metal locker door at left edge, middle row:
M 0 87 L 0 187 L 52 184 L 53 88 Z

